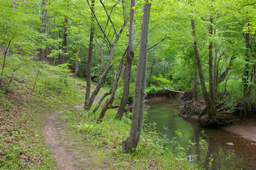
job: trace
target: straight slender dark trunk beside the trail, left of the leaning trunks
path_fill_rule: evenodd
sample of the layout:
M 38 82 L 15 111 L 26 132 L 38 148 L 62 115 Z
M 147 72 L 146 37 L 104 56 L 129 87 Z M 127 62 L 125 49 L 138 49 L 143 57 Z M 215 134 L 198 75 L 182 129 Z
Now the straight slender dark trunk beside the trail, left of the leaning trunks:
M 92 0 L 91 6 L 94 10 L 95 1 Z M 85 94 L 85 103 L 88 102 L 90 97 L 90 77 L 91 77 L 91 67 L 92 67 L 92 55 L 93 55 L 93 36 L 94 36 L 94 17 L 93 12 L 91 11 L 91 26 L 90 26 L 90 44 L 89 44 L 89 55 L 87 60 L 87 67 L 86 67 L 86 94 Z

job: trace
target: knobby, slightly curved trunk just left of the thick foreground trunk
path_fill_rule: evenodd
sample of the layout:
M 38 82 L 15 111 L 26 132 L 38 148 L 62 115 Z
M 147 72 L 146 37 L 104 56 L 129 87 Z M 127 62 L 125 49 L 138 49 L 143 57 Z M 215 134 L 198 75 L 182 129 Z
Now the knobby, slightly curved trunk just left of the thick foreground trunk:
M 133 58 L 134 58 L 134 51 L 133 51 L 133 35 L 134 35 L 134 14 L 136 1 L 131 0 L 131 9 L 130 9 L 130 28 L 129 28 L 129 42 L 128 42 L 128 49 L 126 55 L 126 63 L 125 63 L 125 73 L 123 75 L 123 79 L 125 80 L 125 84 L 123 86 L 123 97 L 121 99 L 120 106 L 118 108 L 117 114 L 115 115 L 115 119 L 122 119 L 123 112 L 125 111 L 125 106 L 127 103 L 127 99 L 129 96 L 129 88 L 130 88 L 130 78 L 131 78 L 131 68 L 133 66 Z

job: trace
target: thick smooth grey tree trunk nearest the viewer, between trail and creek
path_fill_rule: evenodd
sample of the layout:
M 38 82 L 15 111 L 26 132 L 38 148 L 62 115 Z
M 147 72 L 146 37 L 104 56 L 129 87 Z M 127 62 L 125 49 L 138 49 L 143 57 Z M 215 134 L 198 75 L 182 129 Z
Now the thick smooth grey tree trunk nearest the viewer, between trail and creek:
M 143 7 L 143 19 L 141 27 L 141 43 L 139 50 L 139 61 L 135 78 L 135 90 L 133 101 L 133 113 L 131 115 L 130 136 L 123 140 L 123 152 L 134 151 L 137 147 L 141 136 L 143 117 L 144 117 L 144 94 L 146 88 L 146 71 L 147 71 L 147 41 L 148 41 L 148 24 L 150 19 L 151 3 L 146 3 Z

